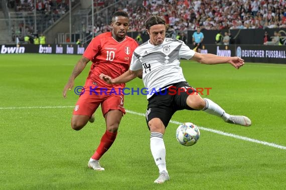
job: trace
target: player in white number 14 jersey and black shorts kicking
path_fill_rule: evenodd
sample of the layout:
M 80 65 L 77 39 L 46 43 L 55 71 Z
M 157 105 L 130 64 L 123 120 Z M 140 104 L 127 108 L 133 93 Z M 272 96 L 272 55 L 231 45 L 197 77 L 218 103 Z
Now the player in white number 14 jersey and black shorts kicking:
M 154 182 L 163 183 L 170 178 L 166 167 L 163 135 L 172 115 L 177 110 L 203 110 L 221 117 L 225 122 L 243 126 L 251 125 L 251 121 L 246 116 L 230 115 L 212 100 L 193 93 L 195 89 L 186 82 L 180 67 L 180 58 L 186 58 L 203 64 L 230 63 L 238 69 L 244 64 L 243 59 L 237 56 L 201 54 L 190 49 L 181 40 L 165 38 L 165 20 L 160 16 L 149 18 L 146 21 L 146 30 L 150 40 L 134 50 L 129 70 L 113 79 L 101 73 L 100 78 L 109 84 L 125 83 L 143 70 L 145 87 L 158 91 L 147 95 L 149 103 L 146 120 L 151 132 L 151 152 L 159 168 L 159 177 Z M 171 88 L 172 93 L 170 93 Z M 182 88 L 188 90 L 184 91 Z M 177 90 L 175 94 L 174 89 Z

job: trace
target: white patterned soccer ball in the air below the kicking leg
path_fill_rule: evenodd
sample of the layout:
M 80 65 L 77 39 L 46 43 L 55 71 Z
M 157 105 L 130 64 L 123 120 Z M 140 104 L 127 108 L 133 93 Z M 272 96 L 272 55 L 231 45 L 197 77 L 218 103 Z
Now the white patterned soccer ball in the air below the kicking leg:
M 180 144 L 191 146 L 197 143 L 200 137 L 200 130 L 194 123 L 185 122 L 178 126 L 176 137 Z

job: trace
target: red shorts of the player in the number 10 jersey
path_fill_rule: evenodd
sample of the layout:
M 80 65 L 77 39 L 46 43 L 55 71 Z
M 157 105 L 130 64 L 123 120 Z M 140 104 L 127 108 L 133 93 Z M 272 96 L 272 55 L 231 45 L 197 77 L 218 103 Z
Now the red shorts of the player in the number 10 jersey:
M 125 114 L 123 103 L 123 94 L 116 92 L 100 93 L 99 91 L 97 94 L 95 94 L 94 92 L 90 93 L 90 91 L 85 88 L 84 93 L 79 96 L 79 99 L 76 102 L 73 114 L 91 116 L 100 104 L 103 116 L 109 110 L 117 109 Z

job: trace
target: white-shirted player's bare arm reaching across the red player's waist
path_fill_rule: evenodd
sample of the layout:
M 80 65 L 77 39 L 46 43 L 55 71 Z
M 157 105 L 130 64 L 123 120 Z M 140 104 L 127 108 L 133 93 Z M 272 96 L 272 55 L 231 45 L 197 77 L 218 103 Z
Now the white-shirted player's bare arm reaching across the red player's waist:
M 142 73 L 142 69 L 140 70 L 127 70 L 120 76 L 117 76 L 116 78 L 112 79 L 110 76 L 101 73 L 99 75 L 100 79 L 104 80 L 108 84 L 119 84 L 119 83 L 126 83 L 134 78 L 136 78 L 140 73 Z

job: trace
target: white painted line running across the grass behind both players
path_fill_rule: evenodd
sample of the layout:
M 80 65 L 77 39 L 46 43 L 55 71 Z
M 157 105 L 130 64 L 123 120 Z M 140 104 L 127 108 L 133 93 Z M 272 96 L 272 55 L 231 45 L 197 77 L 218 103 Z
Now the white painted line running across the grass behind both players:
M 41 108 L 70 108 L 70 107 L 74 107 L 74 106 L 0 107 L 0 109 L 38 109 L 38 108 L 41 109 Z M 138 113 L 138 112 L 127 110 L 127 109 L 126 109 L 126 112 L 131 113 L 131 114 L 135 114 L 135 115 L 145 116 L 145 113 Z M 179 122 L 179 121 L 176 121 L 176 120 L 170 120 L 170 122 L 174 123 L 174 124 L 182 124 L 182 122 Z M 236 135 L 236 134 L 223 132 L 223 131 L 220 131 L 220 130 L 215 130 L 215 129 L 212 129 L 212 128 L 206 128 L 206 127 L 202 127 L 202 126 L 199 126 L 199 128 L 201 130 L 206 130 L 206 131 L 217 133 L 217 134 L 221 134 L 221 135 L 224 135 L 224 136 L 230 136 L 230 137 L 233 137 L 233 138 L 237 138 L 237 139 L 241 139 L 241 140 L 245 140 L 245 141 L 250 141 L 250 142 L 255 142 L 255 143 L 263 144 L 263 145 L 267 145 L 267 146 L 272 146 L 272 147 L 279 148 L 279 149 L 286 149 L 286 146 L 282 146 L 282 145 L 271 143 L 271 142 L 256 140 L 256 139 L 253 139 L 253 138 L 248 138 L 246 136 L 239 136 L 239 135 Z

